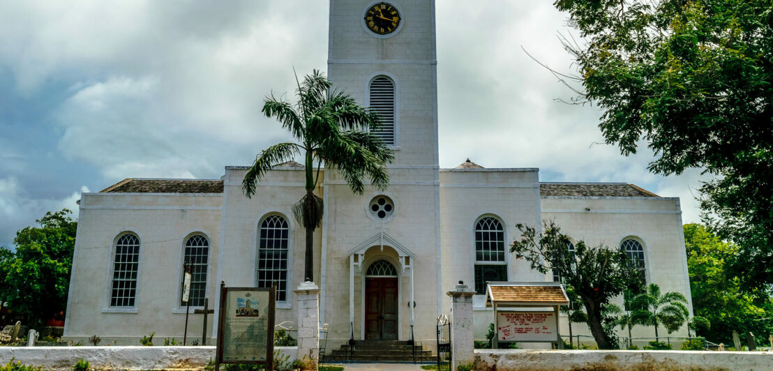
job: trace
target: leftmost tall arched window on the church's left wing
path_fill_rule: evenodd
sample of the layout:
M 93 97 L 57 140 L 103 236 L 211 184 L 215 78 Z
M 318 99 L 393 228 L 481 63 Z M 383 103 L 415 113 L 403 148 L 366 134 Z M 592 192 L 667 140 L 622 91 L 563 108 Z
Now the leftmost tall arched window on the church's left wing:
M 125 233 L 115 241 L 111 307 L 134 307 L 137 294 L 140 239 L 134 233 Z

